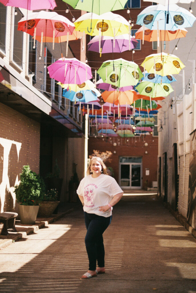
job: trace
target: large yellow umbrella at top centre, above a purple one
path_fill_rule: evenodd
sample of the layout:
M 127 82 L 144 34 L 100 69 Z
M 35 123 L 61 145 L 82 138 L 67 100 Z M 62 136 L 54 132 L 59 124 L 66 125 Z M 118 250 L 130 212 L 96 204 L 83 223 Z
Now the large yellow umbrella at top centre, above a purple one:
M 128 21 L 115 13 L 106 12 L 101 15 L 95 13 L 85 13 L 80 16 L 75 22 L 75 29 L 85 32 L 88 35 L 102 35 L 118 36 L 127 34 L 130 31 L 130 24 Z

